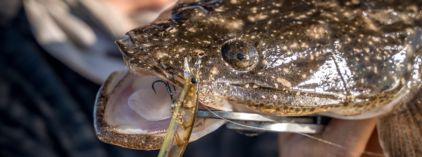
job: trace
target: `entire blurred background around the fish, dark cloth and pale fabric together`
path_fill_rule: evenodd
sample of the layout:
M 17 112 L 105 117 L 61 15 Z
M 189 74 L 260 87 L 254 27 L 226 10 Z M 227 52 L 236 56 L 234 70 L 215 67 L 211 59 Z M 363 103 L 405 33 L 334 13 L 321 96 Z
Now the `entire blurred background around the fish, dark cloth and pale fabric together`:
M 125 65 L 114 41 L 153 21 L 174 0 L 1 0 L 0 156 L 154 157 L 95 136 L 100 84 Z M 224 126 L 184 157 L 276 157 L 277 134 Z

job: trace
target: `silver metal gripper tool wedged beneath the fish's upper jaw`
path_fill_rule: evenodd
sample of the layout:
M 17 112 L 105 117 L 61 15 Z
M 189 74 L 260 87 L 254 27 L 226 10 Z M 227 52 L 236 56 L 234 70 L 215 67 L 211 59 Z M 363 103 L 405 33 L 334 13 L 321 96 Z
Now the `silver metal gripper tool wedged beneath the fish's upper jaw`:
M 331 119 L 320 115 L 279 116 L 209 110 L 198 110 L 196 117 L 229 120 L 234 123 L 228 122 L 227 128 L 250 136 L 263 132 L 321 133 Z

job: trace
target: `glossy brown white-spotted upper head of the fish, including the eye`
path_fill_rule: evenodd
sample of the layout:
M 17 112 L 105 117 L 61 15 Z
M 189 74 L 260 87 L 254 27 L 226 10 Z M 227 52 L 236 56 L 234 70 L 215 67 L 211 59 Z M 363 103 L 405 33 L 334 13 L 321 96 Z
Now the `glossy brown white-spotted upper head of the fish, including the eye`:
M 116 43 L 131 72 L 178 87 L 184 58 L 201 58 L 200 102 L 216 110 L 368 118 L 387 112 L 382 106 L 400 101 L 419 78 L 421 20 L 409 16 L 420 14 L 418 6 L 180 1 Z M 132 80 L 120 84 L 139 91 L 154 81 Z M 153 103 L 146 99 L 153 98 L 134 101 Z

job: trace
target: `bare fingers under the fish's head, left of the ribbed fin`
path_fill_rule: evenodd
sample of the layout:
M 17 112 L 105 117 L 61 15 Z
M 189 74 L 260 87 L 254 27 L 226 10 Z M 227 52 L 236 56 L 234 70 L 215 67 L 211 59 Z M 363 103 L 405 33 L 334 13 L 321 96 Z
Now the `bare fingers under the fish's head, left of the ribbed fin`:
M 365 120 L 332 119 L 322 133 L 312 135 L 340 144 L 348 149 L 335 147 L 297 133 L 279 133 L 279 156 L 361 157 L 375 125 L 376 118 Z

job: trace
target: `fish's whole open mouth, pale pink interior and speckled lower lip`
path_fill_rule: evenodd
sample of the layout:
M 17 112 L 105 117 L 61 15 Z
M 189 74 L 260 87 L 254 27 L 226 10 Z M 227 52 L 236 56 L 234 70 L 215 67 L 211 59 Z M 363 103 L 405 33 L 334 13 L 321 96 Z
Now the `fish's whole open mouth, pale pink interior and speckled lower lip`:
M 129 70 L 112 73 L 97 94 L 95 130 L 100 140 L 134 149 L 160 149 L 169 126 L 171 100 L 158 76 L 141 76 Z M 179 91 L 176 87 L 176 91 Z M 180 92 L 179 92 L 180 93 Z M 174 93 L 176 99 L 178 92 Z M 202 107 L 202 108 L 201 108 Z M 206 109 L 199 105 L 200 109 Z M 208 107 L 211 110 L 217 110 Z M 195 141 L 225 123 L 219 119 L 196 118 L 192 136 Z

